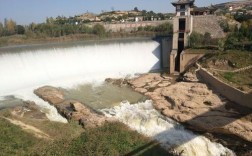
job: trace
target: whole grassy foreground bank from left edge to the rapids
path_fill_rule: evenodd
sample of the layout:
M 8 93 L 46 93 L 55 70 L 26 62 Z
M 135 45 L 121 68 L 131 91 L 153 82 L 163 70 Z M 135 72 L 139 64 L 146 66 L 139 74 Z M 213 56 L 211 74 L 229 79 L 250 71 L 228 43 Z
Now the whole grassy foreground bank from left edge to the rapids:
M 14 118 L 6 110 L 0 116 Z M 0 156 L 5 155 L 170 155 L 150 138 L 118 122 L 84 130 L 75 122 L 62 124 L 16 118 L 44 131 L 53 140 L 39 139 L 0 118 Z

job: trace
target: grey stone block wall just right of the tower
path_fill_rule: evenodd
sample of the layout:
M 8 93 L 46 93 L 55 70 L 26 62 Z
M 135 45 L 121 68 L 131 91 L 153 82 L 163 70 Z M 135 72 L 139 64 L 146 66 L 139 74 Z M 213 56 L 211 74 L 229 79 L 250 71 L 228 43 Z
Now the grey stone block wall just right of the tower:
M 209 32 L 212 38 L 223 38 L 225 34 L 219 25 L 219 20 L 215 15 L 193 16 L 193 30 L 201 34 Z

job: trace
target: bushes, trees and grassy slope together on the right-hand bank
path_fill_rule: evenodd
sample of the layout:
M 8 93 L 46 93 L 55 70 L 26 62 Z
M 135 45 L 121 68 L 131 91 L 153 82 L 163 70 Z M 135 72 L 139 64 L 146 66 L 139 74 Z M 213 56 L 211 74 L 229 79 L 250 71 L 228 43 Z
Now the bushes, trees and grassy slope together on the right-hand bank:
M 213 39 L 210 33 L 193 32 L 189 37 L 189 52 L 206 51 L 201 64 L 230 85 L 243 90 L 252 90 L 252 69 L 233 72 L 252 65 L 252 16 L 232 16 L 239 25 L 230 25 L 228 20 L 220 22 L 226 33 L 222 39 Z M 211 70 L 217 69 L 217 70 Z M 223 71 L 221 71 L 223 70 Z

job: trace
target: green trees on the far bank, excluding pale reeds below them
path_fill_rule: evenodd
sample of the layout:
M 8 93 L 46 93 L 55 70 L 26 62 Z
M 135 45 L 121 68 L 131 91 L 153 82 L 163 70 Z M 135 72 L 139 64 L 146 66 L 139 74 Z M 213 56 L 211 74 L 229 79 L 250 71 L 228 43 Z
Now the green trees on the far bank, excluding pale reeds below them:
M 77 23 L 76 23 L 77 22 Z M 140 27 L 135 31 L 150 32 L 172 32 L 172 24 L 164 23 L 159 26 Z M 28 38 L 60 37 L 71 34 L 92 34 L 105 36 L 106 31 L 102 24 L 87 25 L 78 23 L 74 18 L 57 17 L 56 19 L 47 18 L 45 23 L 29 25 L 17 25 L 12 19 L 5 19 L 4 24 L 0 23 L 0 36 L 25 35 Z

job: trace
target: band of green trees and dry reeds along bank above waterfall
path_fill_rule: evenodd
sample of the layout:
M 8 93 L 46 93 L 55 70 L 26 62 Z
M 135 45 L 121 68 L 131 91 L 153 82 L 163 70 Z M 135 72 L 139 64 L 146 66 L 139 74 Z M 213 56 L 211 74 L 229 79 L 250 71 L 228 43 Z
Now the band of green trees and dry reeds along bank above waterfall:
M 107 31 L 102 24 L 66 24 L 62 22 L 47 22 L 30 24 L 29 26 L 16 25 L 7 20 L 5 25 L 0 23 L 0 46 L 41 43 L 52 41 L 97 40 L 105 38 L 124 37 L 154 37 L 172 33 L 172 24 L 163 23 L 158 26 L 139 27 L 131 32 Z

